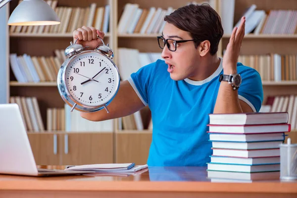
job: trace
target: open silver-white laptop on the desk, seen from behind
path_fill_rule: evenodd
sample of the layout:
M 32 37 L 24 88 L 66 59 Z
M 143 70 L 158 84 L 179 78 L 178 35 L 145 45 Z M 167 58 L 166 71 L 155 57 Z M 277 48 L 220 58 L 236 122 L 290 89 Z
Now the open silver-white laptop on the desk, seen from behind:
M 19 106 L 0 104 L 0 174 L 60 176 L 93 172 L 38 169 Z

